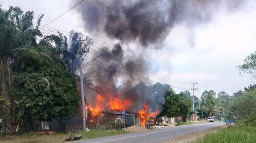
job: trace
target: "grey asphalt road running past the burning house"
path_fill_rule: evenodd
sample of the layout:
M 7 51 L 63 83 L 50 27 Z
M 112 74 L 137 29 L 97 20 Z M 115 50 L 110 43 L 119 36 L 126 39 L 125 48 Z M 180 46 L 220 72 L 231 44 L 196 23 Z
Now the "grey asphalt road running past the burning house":
M 196 125 L 175 126 L 165 129 L 156 129 L 145 132 L 122 134 L 96 139 L 75 141 L 75 143 L 162 143 L 171 139 L 186 136 L 192 132 L 200 132 L 214 127 L 225 125 L 225 123 L 203 123 Z

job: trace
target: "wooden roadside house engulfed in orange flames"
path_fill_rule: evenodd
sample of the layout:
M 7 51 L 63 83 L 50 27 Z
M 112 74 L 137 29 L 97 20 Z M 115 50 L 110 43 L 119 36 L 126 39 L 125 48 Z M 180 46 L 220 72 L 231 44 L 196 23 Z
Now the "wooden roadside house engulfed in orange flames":
M 120 97 L 120 95 L 119 95 Z M 148 113 L 149 106 L 144 103 L 143 109 L 138 110 L 137 112 L 131 112 L 132 102 L 131 100 L 121 100 L 120 98 L 114 98 L 111 100 L 103 100 L 102 95 L 98 94 L 96 96 L 96 102 L 94 107 L 89 105 L 87 102 L 85 107 L 87 123 L 90 124 L 114 124 L 116 118 L 120 117 L 125 126 L 129 127 L 131 125 L 142 125 L 145 126 L 147 117 L 156 116 L 159 114 L 159 110 L 156 110 L 152 113 Z M 122 110 L 130 111 L 131 114 L 126 113 L 125 116 L 121 116 Z

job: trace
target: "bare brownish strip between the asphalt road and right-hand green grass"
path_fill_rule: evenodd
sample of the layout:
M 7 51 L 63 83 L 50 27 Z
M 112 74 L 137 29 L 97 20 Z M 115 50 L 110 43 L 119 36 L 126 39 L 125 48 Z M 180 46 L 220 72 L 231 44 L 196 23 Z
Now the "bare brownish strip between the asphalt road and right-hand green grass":
M 206 131 L 202 131 L 202 132 L 193 132 L 192 134 L 189 134 L 187 136 L 178 137 L 178 138 L 172 139 L 170 141 L 164 141 L 163 143 L 187 143 L 187 142 L 193 141 L 197 138 L 201 138 L 205 134 L 209 134 L 212 132 L 218 132 L 218 130 L 223 129 L 225 127 L 227 127 L 227 126 L 223 125 L 223 126 L 212 128 L 210 130 L 206 130 Z

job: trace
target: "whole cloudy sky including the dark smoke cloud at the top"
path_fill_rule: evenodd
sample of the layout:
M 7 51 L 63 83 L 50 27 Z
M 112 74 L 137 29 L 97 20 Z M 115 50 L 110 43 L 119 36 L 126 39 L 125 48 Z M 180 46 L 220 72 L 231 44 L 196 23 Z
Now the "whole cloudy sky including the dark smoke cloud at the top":
M 43 13 L 45 25 L 78 1 L 6 0 L 1 4 L 5 9 L 12 5 Z M 177 87 L 177 93 L 192 86 L 173 80 L 198 82 L 197 96 L 210 89 L 232 94 L 250 84 L 236 66 L 255 51 L 254 0 L 85 0 L 48 27 L 80 31 L 110 49 L 119 43 L 124 57 L 141 59 L 143 67 L 172 79 L 168 84 Z

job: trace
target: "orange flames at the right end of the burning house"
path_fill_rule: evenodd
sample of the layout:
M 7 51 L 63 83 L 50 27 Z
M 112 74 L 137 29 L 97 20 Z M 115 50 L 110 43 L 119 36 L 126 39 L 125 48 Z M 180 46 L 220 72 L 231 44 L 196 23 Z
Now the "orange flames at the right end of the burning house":
M 146 121 L 147 121 L 147 117 L 156 116 L 156 115 L 158 115 L 160 113 L 160 111 L 156 110 L 153 113 L 147 114 L 147 110 L 148 109 L 149 109 L 149 106 L 144 103 L 143 109 L 138 111 L 138 115 L 141 118 L 141 125 L 142 125 L 142 127 L 145 127 L 145 124 L 146 124 Z

